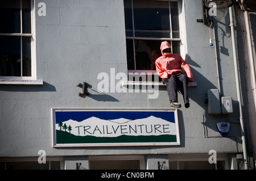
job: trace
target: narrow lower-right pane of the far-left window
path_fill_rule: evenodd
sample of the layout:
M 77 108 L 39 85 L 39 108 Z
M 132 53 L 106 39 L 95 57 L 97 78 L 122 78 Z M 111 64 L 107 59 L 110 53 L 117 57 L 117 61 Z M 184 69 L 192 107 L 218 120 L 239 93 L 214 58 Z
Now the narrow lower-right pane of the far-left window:
M 31 77 L 31 37 L 22 37 L 22 76 Z

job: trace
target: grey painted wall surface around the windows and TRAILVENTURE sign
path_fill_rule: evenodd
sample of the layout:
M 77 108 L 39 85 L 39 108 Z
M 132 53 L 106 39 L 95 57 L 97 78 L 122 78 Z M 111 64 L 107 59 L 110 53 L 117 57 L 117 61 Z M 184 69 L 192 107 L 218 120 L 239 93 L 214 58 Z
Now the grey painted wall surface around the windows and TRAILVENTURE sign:
M 35 1 L 35 5 L 41 2 Z M 189 87 L 191 107 L 178 110 L 180 146 L 137 146 L 114 148 L 52 148 L 51 108 L 161 108 L 170 107 L 166 87 L 158 99 L 148 93 L 104 93 L 97 90 L 99 73 L 127 72 L 125 20 L 122 0 L 44 1 L 46 16 L 36 14 L 36 75 L 42 86 L 0 85 L 0 157 L 104 154 L 234 153 L 242 150 L 229 15 L 216 22 L 221 92 L 232 96 L 234 112 L 209 115 L 204 103 L 208 89 L 217 89 L 214 47 L 209 47 L 209 28 L 203 19 L 201 0 L 183 1 L 187 33 L 188 63 L 197 82 Z M 38 11 L 36 6 L 36 12 Z M 240 33 L 236 24 L 237 33 Z M 212 34 L 213 35 L 213 34 Z M 238 49 L 242 49 L 237 36 Z M 239 54 L 238 54 L 239 56 Z M 240 59 L 241 80 L 245 64 Z M 81 98 L 76 85 L 88 82 L 90 96 Z M 245 81 L 242 82 L 243 94 Z M 179 94 L 182 103 L 182 96 Z M 246 99 L 243 100 L 247 120 Z M 216 123 L 231 123 L 227 137 L 221 137 Z M 250 136 L 250 133 L 247 133 Z M 250 139 L 249 139 L 250 144 Z M 249 145 L 250 146 L 250 145 Z

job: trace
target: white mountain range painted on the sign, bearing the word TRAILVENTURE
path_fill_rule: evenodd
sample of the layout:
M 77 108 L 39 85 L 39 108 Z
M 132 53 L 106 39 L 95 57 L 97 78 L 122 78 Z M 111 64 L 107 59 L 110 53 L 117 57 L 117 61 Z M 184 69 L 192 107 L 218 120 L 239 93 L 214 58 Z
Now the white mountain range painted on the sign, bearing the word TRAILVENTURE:
M 163 136 L 176 135 L 176 124 L 159 117 L 144 119 L 104 120 L 89 117 L 83 121 L 68 120 L 55 125 L 56 131 L 67 132 L 74 136 L 119 137 L 119 136 Z M 63 133 L 64 134 L 64 133 Z

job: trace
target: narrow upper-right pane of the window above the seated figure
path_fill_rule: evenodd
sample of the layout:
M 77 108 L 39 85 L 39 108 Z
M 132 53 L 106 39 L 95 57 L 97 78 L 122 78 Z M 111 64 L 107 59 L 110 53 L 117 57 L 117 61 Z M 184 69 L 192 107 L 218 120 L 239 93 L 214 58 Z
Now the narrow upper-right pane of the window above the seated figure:
M 180 26 L 179 26 L 179 11 L 177 8 L 177 2 L 170 2 L 171 7 L 171 20 L 172 20 L 172 37 L 180 37 Z

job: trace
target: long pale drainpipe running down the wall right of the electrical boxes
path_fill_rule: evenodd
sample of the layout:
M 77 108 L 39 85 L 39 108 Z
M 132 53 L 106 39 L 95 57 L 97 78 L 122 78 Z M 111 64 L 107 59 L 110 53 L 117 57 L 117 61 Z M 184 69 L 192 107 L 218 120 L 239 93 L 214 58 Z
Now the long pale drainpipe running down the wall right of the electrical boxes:
M 239 81 L 239 75 L 238 75 L 237 48 L 236 48 L 236 41 L 235 41 L 235 36 L 234 36 L 234 21 L 233 21 L 233 12 L 232 11 L 233 11 L 232 7 L 229 7 L 229 18 L 230 18 L 230 28 L 231 28 L 231 35 L 232 35 L 233 57 L 234 57 L 234 70 L 235 70 L 235 75 L 236 75 L 237 100 L 238 100 L 239 109 L 240 109 L 240 124 L 241 124 L 241 136 L 242 136 L 242 147 L 243 147 L 243 160 L 245 163 L 245 170 L 248 170 L 245 127 L 243 125 L 241 90 L 240 90 L 240 81 Z

